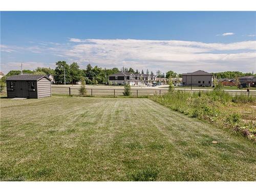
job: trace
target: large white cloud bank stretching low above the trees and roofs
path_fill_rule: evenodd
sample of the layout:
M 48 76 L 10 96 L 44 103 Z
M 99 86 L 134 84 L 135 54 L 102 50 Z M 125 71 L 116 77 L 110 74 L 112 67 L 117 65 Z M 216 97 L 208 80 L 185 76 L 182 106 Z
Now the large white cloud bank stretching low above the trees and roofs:
M 103 68 L 124 66 L 150 71 L 173 70 L 178 73 L 196 70 L 256 71 L 256 41 L 229 44 L 139 39 L 70 38 L 69 41 L 67 44 L 53 43 L 49 46 L 33 44 L 23 49 L 5 46 L 5 49 L 58 56 L 61 60 L 79 62 L 82 69 L 90 62 Z M 40 61 L 38 63 L 40 65 Z

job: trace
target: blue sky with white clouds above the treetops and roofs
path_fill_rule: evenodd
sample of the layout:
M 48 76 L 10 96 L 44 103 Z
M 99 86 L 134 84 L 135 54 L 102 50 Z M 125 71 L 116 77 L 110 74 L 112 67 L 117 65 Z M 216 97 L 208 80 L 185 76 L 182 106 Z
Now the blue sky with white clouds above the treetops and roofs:
M 1 71 L 58 60 L 154 73 L 256 72 L 256 12 L 1 12 Z

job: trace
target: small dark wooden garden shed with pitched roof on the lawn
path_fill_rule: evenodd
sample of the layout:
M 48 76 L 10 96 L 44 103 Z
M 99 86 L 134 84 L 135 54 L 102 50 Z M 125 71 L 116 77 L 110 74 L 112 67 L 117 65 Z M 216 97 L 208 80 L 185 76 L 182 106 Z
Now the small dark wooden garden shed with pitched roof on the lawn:
M 46 75 L 14 75 L 6 79 L 7 97 L 42 98 L 52 95 L 51 79 Z

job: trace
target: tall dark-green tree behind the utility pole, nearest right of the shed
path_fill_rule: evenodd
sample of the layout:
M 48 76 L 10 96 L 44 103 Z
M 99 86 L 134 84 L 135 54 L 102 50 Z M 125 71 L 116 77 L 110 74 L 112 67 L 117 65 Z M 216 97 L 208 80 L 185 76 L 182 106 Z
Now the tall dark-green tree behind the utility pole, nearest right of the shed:
M 55 68 L 55 76 L 54 79 L 58 83 L 63 83 L 65 81 L 66 76 L 66 82 L 71 81 L 70 76 L 70 67 L 67 64 L 66 61 L 58 61 L 56 62 L 56 68 Z

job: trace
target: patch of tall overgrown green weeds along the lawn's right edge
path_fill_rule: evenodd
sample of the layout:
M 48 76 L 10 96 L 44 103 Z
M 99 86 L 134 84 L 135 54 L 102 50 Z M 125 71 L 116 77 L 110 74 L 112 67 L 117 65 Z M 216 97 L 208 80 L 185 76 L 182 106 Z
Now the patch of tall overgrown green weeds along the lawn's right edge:
M 226 111 L 220 110 L 221 107 L 228 107 L 232 103 L 243 104 L 255 102 L 255 98 L 253 97 L 246 95 L 231 96 L 224 91 L 214 90 L 194 93 L 174 91 L 161 96 L 152 96 L 151 99 L 190 117 L 214 123 L 219 127 L 228 127 L 242 133 L 246 132 L 248 138 L 256 140 L 254 133 L 256 132 L 255 123 L 244 123 L 240 114 L 227 113 Z M 253 126 L 255 127 L 253 128 Z

